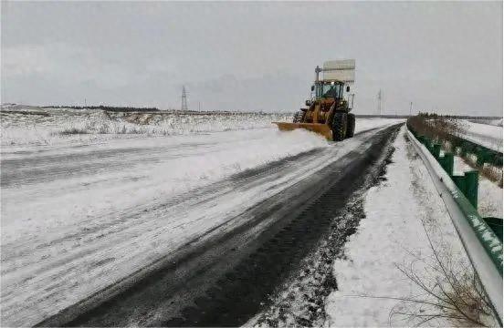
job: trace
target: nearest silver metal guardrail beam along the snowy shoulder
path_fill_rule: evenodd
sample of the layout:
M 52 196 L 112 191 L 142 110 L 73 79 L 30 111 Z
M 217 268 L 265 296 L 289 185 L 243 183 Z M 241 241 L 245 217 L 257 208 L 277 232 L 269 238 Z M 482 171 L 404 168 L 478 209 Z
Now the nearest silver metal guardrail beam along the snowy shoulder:
M 499 316 L 499 322 L 502 323 L 502 242 L 488 227 L 486 221 L 479 216 L 478 210 L 467 200 L 464 193 L 458 189 L 452 176 L 432 154 L 432 151 L 436 152 L 437 149 L 432 149 L 432 151 L 427 149 L 409 130 L 409 127 L 408 137 L 424 160 L 436 190 L 445 202 L 446 210 L 454 223 L 469 261 Z M 421 136 L 418 137 L 421 139 Z

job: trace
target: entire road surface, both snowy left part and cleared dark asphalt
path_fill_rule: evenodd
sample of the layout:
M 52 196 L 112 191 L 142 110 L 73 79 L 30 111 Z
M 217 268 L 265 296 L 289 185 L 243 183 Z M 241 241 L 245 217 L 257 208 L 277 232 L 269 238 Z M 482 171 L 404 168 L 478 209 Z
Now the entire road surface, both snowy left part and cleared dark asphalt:
M 244 323 L 292 240 L 323 228 L 303 210 L 325 197 L 311 210 L 329 218 L 393 129 L 329 145 L 266 128 L 3 149 L 2 323 Z

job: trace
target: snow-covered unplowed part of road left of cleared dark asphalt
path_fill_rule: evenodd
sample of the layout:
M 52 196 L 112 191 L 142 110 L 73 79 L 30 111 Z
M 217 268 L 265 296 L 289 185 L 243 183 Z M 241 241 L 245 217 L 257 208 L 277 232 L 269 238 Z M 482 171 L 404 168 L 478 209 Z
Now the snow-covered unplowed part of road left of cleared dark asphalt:
M 362 119 L 358 130 L 396 123 Z M 341 147 L 358 147 L 359 138 Z M 211 185 L 312 149 L 275 128 L 2 149 L 2 322 L 32 325 L 148 266 L 334 159 Z M 332 158 L 331 158 L 332 157 Z M 219 196 L 219 197 L 217 197 Z

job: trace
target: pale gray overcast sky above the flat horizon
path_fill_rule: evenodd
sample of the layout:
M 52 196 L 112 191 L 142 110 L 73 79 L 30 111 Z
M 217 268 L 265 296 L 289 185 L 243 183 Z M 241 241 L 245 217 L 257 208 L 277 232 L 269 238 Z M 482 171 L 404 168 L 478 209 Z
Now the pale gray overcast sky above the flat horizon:
M 355 58 L 356 113 L 502 115 L 502 2 L 2 2 L 2 102 L 294 111 Z

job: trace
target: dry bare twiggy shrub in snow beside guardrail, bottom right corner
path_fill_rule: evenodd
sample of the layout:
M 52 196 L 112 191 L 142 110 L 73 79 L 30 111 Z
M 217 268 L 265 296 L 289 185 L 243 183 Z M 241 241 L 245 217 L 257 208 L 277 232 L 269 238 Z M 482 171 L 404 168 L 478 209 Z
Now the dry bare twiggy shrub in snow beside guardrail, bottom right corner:
M 436 251 L 426 229 L 425 234 L 433 255 L 397 265 L 423 293 L 400 299 L 402 305 L 408 306 L 394 307 L 391 317 L 404 316 L 416 326 L 435 319 L 445 319 L 458 327 L 496 325 L 492 306 L 473 268 L 455 261 L 456 256 L 450 252 Z

